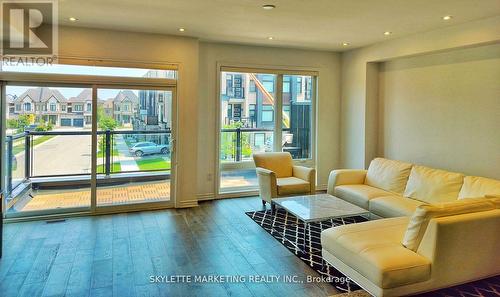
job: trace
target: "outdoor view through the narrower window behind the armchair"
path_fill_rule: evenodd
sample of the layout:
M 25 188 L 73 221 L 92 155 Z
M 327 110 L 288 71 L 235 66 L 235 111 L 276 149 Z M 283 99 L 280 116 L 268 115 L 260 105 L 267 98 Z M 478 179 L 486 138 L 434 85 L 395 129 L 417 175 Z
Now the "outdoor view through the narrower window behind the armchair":
M 311 76 L 221 73 L 221 191 L 255 189 L 256 152 L 286 151 L 294 159 L 311 158 Z M 281 110 L 276 110 L 278 94 Z M 276 117 L 281 118 L 281 137 Z

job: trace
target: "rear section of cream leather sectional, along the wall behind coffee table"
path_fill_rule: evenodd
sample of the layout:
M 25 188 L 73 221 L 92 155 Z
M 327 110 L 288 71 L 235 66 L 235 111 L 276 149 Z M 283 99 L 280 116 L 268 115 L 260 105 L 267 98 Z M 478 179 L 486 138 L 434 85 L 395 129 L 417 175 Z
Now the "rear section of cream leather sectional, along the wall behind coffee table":
M 368 170 L 333 170 L 327 191 L 390 218 L 411 216 L 419 205 L 500 195 L 500 181 L 377 158 Z

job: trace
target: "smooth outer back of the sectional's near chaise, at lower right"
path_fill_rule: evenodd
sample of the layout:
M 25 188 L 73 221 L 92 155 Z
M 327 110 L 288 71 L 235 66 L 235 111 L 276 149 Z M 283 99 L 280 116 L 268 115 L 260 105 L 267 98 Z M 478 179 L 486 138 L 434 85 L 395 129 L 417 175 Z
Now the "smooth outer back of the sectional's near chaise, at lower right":
M 497 275 L 500 274 L 498 226 L 499 209 L 433 218 L 417 253 L 432 262 L 431 277 L 440 284 Z M 460 269 L 450 269 L 457 263 Z

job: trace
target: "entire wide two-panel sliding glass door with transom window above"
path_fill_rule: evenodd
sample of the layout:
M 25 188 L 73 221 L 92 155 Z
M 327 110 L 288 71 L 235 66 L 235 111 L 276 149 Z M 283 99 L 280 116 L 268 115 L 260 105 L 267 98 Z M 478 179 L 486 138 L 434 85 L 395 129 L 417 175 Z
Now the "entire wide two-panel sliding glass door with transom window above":
M 174 205 L 175 70 L 33 67 L 0 71 L 6 217 Z

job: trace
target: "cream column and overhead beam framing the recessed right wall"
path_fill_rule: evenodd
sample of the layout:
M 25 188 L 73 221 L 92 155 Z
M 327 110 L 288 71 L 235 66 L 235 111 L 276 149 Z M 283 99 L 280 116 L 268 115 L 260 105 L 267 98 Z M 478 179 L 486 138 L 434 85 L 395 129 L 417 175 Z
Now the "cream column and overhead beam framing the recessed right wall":
M 371 100 L 376 100 L 372 98 L 378 97 L 377 87 L 373 86 L 373 81 L 377 80 L 379 72 L 370 67 L 372 63 L 448 52 L 499 41 L 500 17 L 494 17 L 389 40 L 343 53 L 341 166 L 365 168 L 377 154 L 374 146 L 378 146 L 379 131 L 376 127 L 378 104 Z

